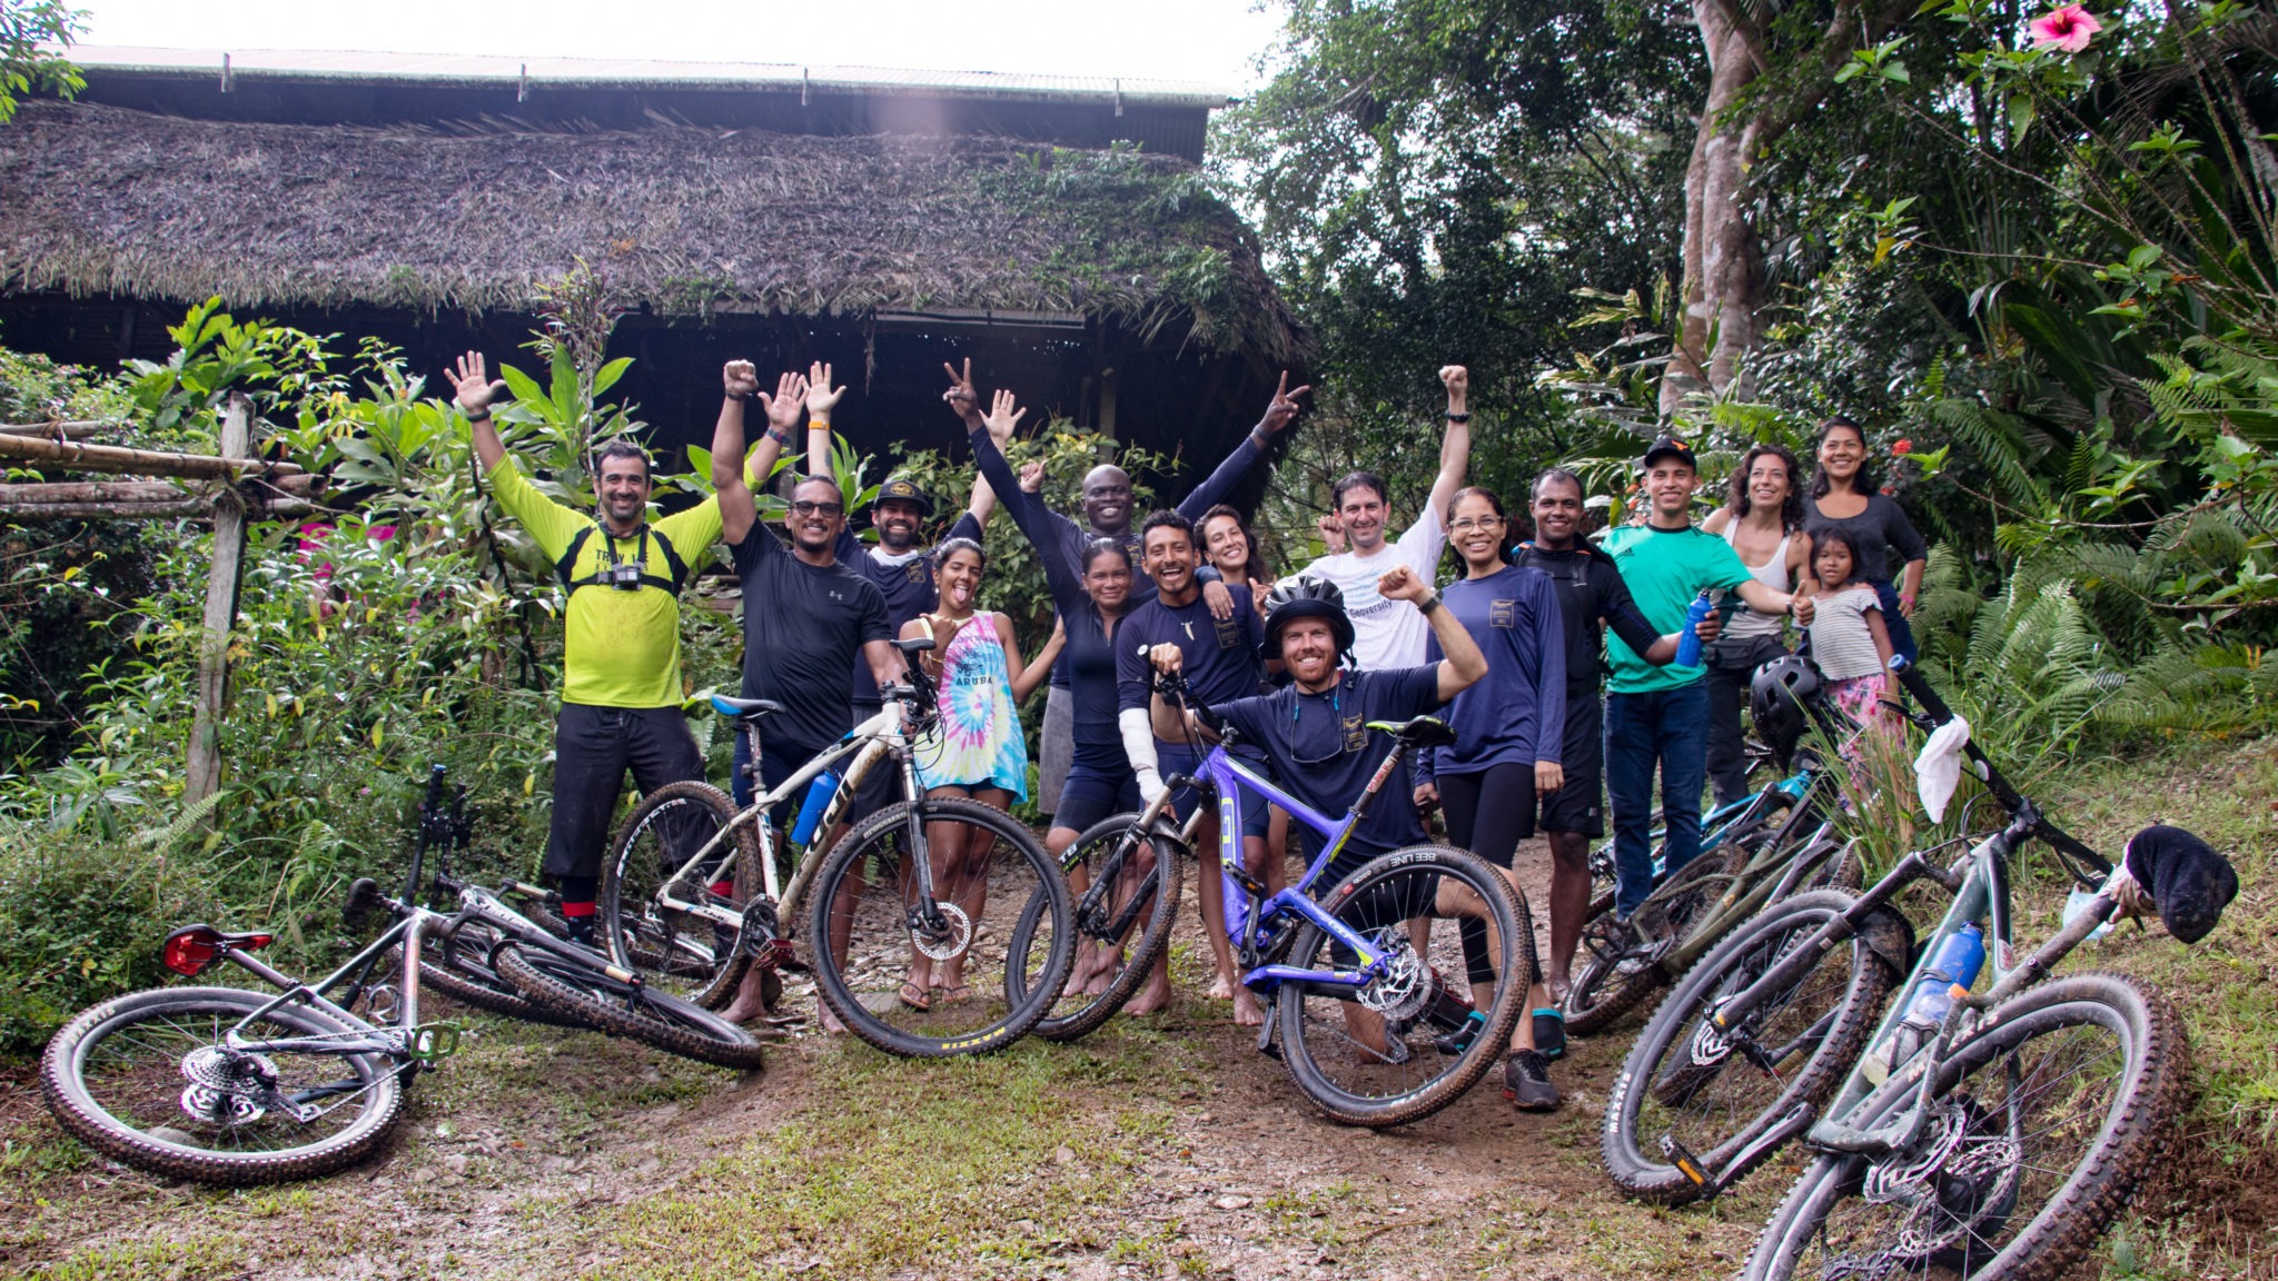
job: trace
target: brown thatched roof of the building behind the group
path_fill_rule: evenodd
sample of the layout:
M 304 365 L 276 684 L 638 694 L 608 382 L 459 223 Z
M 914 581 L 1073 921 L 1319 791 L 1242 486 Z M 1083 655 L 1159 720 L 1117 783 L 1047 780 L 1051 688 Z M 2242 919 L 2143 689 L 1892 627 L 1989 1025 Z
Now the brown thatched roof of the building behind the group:
M 25 103 L 0 287 L 528 310 L 579 258 L 663 315 L 991 308 L 1298 353 L 1255 237 L 1182 162 L 977 137 L 346 128 Z

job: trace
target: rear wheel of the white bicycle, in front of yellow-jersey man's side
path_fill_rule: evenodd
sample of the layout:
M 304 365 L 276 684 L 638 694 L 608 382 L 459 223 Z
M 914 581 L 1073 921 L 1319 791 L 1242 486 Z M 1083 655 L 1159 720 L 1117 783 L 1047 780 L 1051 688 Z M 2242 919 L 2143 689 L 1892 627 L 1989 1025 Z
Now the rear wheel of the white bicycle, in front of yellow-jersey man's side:
M 640 798 L 633 814 L 617 827 L 608 859 L 601 864 L 601 935 L 608 957 L 658 989 L 693 1001 L 706 1010 L 727 1005 L 752 966 L 749 953 L 736 948 L 736 925 L 718 925 L 658 903 L 688 859 L 727 830 L 736 802 L 708 782 L 672 782 Z M 727 848 L 715 850 L 672 887 L 681 903 L 708 903 L 743 909 L 745 894 L 759 884 L 759 837 L 752 825 L 736 827 Z

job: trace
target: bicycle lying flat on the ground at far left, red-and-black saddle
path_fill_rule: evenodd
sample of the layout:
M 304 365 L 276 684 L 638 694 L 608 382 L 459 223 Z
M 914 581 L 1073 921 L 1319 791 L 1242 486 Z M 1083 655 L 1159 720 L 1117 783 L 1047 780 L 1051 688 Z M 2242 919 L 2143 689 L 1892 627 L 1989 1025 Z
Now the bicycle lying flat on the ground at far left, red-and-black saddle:
M 440 791 L 442 775 L 431 773 L 426 814 L 442 811 Z M 394 925 L 317 982 L 253 955 L 276 941 L 269 932 L 185 925 L 166 935 L 166 969 L 200 978 L 230 962 L 278 992 L 157 987 L 93 1005 L 41 1055 L 48 1110 L 105 1156 L 205 1183 L 278 1183 L 353 1165 L 387 1137 L 412 1076 L 458 1049 L 460 1026 L 421 1021 L 419 996 L 424 946 L 465 930 L 508 939 L 501 948 L 533 957 L 533 971 L 544 966 L 574 985 L 581 1001 L 558 1010 L 574 1005 L 581 1021 L 588 1005 L 606 1003 L 652 1037 L 704 1051 L 697 1058 L 756 1067 L 759 1042 L 743 1028 L 645 992 L 638 976 L 554 939 L 485 889 L 456 887 L 453 916 L 424 907 L 424 855 L 421 843 L 403 898 L 383 898 L 369 878 L 351 887 L 351 928 L 383 905 Z M 371 982 L 390 955 L 396 982 Z M 513 978 L 515 969 L 501 964 L 501 973 Z M 353 1012 L 358 1003 L 364 1014 Z

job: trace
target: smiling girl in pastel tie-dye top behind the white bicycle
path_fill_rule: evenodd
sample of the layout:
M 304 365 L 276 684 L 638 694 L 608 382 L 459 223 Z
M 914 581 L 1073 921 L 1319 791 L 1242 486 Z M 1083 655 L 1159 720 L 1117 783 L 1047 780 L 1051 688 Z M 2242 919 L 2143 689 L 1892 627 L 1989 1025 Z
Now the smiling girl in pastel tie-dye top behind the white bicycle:
M 934 647 L 918 663 L 936 682 L 941 700 L 939 725 L 911 743 L 918 784 L 925 795 L 968 795 L 1005 809 L 1027 800 L 1027 743 L 1021 736 L 1021 702 L 1043 684 L 1059 656 L 1059 636 L 1021 661 L 1021 643 L 1002 613 L 975 609 L 986 554 L 970 538 L 950 538 L 934 558 L 934 588 L 941 604 L 902 627 L 902 638 L 932 636 Z M 929 823 L 925 843 L 934 859 L 939 884 L 966 887 L 959 907 L 980 921 L 989 894 L 986 859 L 993 837 L 964 823 Z M 964 866 L 980 862 L 982 866 Z M 909 957 L 909 980 L 902 1003 L 927 1010 L 939 989 L 943 1001 L 973 996 L 966 985 L 966 957 L 932 962 L 920 953 Z

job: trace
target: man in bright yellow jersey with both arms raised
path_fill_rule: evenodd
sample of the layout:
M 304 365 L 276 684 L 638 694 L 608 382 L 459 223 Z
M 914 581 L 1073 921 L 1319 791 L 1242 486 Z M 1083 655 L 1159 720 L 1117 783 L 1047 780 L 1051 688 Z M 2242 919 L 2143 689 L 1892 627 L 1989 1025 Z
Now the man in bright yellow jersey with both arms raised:
M 729 394 L 759 392 L 749 362 L 722 376 Z M 567 593 L 563 622 L 563 713 L 554 725 L 554 823 L 544 871 L 560 882 L 570 935 L 592 941 L 601 846 L 624 770 L 633 786 L 702 780 L 704 757 L 681 716 L 681 588 L 720 540 L 720 501 L 649 520 L 649 456 L 613 440 L 595 458 L 601 520 L 538 492 L 508 456 L 490 406 L 506 394 L 483 356 L 469 351 L 451 374 L 458 408 L 474 424 L 474 454 L 490 492 L 554 561 Z M 759 474 L 800 424 L 806 385 L 784 374 L 768 408 L 768 435 L 752 458 Z

